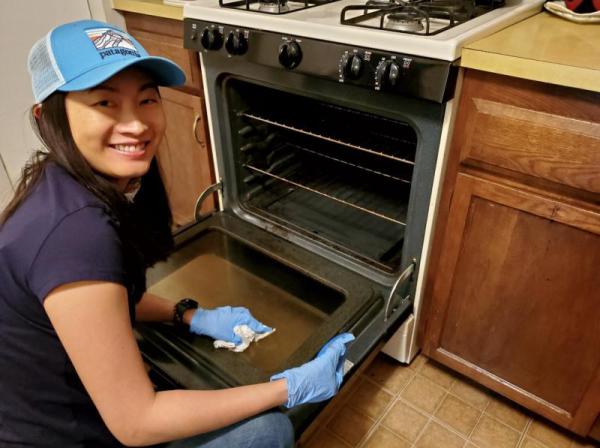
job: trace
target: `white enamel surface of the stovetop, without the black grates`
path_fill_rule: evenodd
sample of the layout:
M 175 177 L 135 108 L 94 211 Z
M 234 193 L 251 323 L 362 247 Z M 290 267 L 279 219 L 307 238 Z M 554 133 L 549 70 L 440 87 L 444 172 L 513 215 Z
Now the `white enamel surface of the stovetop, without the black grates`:
M 460 58 L 461 48 L 464 45 L 540 12 L 543 3 L 544 0 L 506 0 L 506 5 L 501 8 L 433 36 L 342 25 L 340 23 L 342 8 L 360 5 L 361 0 L 341 0 L 281 15 L 222 8 L 218 0 L 200 0 L 186 4 L 183 15 L 208 22 L 274 31 L 290 37 L 321 39 L 369 49 L 454 61 Z

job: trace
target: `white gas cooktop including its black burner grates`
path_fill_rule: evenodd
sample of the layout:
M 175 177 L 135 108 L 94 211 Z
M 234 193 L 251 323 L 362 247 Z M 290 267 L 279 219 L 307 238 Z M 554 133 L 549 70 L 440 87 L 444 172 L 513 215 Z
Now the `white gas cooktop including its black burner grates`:
M 542 4 L 543 0 L 220 0 L 188 4 L 184 17 L 455 61 L 467 43 L 538 13 Z

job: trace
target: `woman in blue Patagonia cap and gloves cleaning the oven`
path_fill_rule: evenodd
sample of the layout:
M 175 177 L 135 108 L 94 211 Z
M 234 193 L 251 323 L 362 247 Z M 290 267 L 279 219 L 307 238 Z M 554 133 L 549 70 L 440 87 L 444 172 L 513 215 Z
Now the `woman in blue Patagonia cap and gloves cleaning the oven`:
M 174 310 L 145 292 L 146 268 L 173 245 L 154 162 L 157 86 L 182 84 L 181 69 L 111 25 L 79 21 L 36 43 L 29 70 L 46 151 L 0 217 L 0 444 L 290 446 L 289 420 L 264 412 L 335 394 L 351 335 L 269 383 L 163 392 L 133 336 L 135 319 L 232 342 L 242 323 L 269 330 L 246 309 Z

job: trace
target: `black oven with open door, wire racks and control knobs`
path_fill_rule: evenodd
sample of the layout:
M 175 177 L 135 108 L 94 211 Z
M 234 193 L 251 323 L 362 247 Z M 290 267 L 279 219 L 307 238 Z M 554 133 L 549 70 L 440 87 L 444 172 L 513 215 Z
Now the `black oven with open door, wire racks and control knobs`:
M 316 23 L 325 6 L 312 6 Z M 198 16 L 185 19 L 184 42 L 201 57 L 218 182 L 174 255 L 148 273 L 149 290 L 246 306 L 277 330 L 233 353 L 138 325 L 151 376 L 184 388 L 268 381 L 346 331 L 351 375 L 413 317 L 458 67 L 311 37 L 306 17 L 269 29 L 264 18 Z M 307 33 L 283 32 L 288 23 Z M 219 209 L 204 216 L 212 194 Z M 288 411 L 297 433 L 322 406 Z

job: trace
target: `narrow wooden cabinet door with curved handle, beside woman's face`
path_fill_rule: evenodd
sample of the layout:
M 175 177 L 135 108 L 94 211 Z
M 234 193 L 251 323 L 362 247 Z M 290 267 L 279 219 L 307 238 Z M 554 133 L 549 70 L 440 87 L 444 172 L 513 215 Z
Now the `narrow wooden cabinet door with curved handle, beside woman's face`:
M 173 224 L 179 227 L 194 220 L 196 199 L 214 183 L 206 117 L 202 98 L 175 89 L 160 89 L 167 118 L 167 131 L 158 149 L 157 160 L 167 190 Z M 215 208 L 213 198 L 202 212 Z

